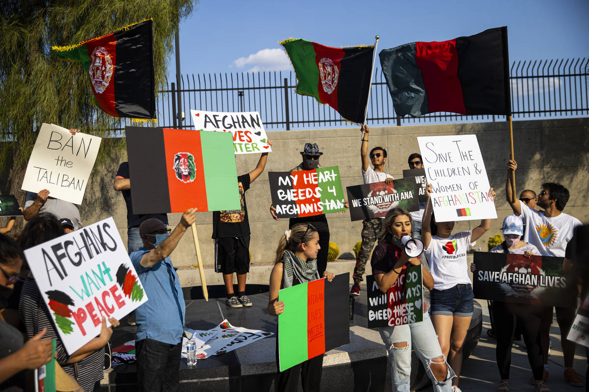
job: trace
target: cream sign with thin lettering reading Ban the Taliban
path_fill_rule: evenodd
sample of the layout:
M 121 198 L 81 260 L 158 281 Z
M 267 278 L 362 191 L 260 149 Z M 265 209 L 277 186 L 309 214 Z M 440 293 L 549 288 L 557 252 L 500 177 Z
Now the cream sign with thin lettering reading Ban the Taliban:
M 43 123 L 31 152 L 22 189 L 81 204 L 101 138 Z

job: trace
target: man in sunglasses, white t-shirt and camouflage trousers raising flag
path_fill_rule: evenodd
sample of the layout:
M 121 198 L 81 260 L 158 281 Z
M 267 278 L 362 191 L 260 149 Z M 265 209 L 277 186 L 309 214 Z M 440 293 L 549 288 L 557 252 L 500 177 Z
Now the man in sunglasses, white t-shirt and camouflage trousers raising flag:
M 368 155 L 368 133 L 370 129 L 366 125 L 360 128 L 362 131 L 362 143 L 360 144 L 360 159 L 362 159 L 362 178 L 365 184 L 372 184 L 375 182 L 385 182 L 387 185 L 393 182 L 393 176 L 384 172 L 383 167 L 386 162 L 386 150 L 382 147 L 375 147 L 370 150 Z M 370 156 L 370 159 L 368 159 Z M 370 167 L 372 162 L 372 167 Z M 364 270 L 366 269 L 366 262 L 368 256 L 372 252 L 372 247 L 376 242 L 376 238 L 380 234 L 382 228 L 383 218 L 372 218 L 362 221 L 362 245 L 360 245 L 360 252 L 358 259 L 356 259 L 356 266 L 354 267 L 353 279 L 354 284 L 350 290 L 350 296 L 360 295 L 360 282 L 362 282 Z

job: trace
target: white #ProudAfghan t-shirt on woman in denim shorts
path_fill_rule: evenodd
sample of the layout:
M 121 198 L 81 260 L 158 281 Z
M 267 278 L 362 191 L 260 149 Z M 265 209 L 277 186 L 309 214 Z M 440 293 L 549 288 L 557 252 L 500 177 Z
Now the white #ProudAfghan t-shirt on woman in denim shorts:
M 471 245 L 472 230 L 452 234 L 448 238 L 432 236 L 425 257 L 434 277 L 434 289 L 446 290 L 456 284 L 470 284 L 466 250 Z

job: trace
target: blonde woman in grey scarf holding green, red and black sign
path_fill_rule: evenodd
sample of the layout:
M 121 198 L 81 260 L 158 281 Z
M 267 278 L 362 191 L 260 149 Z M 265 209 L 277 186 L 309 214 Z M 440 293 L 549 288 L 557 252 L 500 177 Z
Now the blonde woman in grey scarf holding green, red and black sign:
M 280 289 L 320 279 L 317 271 L 319 249 L 319 233 L 310 223 L 294 225 L 292 229 L 286 230 L 284 235 L 280 237 L 274 268 L 270 274 L 270 295 L 267 309 L 271 316 L 278 316 L 286 310 L 284 302 L 278 300 Z M 330 282 L 333 280 L 333 276 L 327 271 L 323 273 L 323 277 L 326 277 Z M 280 371 L 278 344 L 276 344 L 276 364 L 279 368 L 277 391 L 296 391 L 299 376 L 303 391 L 320 390 L 323 355 Z

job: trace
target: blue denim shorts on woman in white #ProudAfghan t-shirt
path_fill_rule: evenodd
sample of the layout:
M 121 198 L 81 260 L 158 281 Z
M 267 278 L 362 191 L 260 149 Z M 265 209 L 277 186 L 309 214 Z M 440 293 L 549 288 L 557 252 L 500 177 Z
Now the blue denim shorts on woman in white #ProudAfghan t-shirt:
M 474 311 L 474 294 L 470 284 L 459 283 L 446 290 L 430 292 L 432 314 L 471 317 Z

